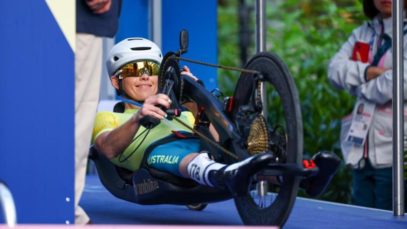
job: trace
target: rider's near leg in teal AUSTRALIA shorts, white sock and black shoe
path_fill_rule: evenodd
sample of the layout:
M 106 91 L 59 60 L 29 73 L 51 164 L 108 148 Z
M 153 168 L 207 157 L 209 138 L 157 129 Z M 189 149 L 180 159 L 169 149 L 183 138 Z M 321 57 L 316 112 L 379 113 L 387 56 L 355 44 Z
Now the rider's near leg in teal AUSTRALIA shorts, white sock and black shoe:
M 271 155 L 258 154 L 232 165 L 217 163 L 207 152 L 196 153 L 199 141 L 179 140 L 155 148 L 147 158 L 149 166 L 160 171 L 190 178 L 200 184 L 226 188 L 245 195 L 251 177 L 271 161 Z

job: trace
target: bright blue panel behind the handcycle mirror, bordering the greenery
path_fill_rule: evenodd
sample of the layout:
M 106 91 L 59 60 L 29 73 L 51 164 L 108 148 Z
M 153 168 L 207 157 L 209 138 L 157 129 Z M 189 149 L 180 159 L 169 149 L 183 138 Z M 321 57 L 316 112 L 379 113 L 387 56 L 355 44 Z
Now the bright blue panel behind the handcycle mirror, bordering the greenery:
M 175 4 L 176 3 L 176 4 Z M 179 31 L 188 30 L 188 52 L 185 58 L 218 63 L 217 1 L 162 1 L 162 51 L 177 51 Z M 205 82 L 208 89 L 217 87 L 217 69 L 192 63 L 191 72 Z

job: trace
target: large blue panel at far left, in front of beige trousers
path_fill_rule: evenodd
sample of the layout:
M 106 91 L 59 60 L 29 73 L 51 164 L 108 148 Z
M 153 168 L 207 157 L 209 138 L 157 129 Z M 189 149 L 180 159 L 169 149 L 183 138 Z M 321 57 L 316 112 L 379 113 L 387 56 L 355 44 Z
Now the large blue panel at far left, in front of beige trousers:
M 1 1 L 0 34 L 0 180 L 19 223 L 73 222 L 73 51 L 43 0 Z

